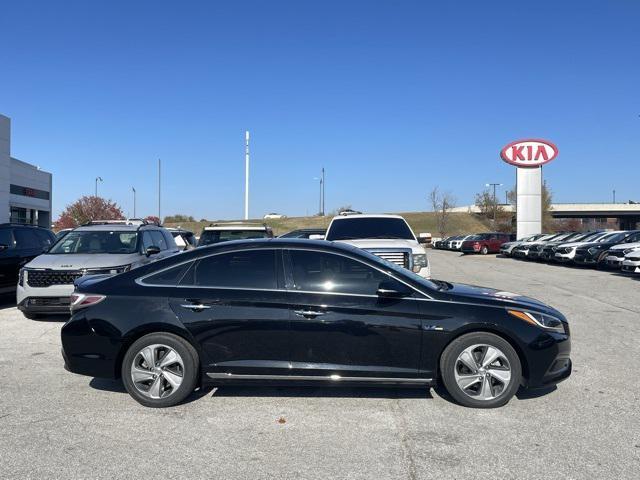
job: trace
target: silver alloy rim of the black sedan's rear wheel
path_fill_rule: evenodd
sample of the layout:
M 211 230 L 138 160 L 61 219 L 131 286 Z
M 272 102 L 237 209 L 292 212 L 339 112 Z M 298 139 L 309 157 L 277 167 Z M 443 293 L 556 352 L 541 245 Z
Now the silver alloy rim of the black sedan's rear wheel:
M 133 358 L 131 380 L 145 397 L 166 398 L 180 388 L 183 378 L 182 357 L 167 345 L 148 345 Z

